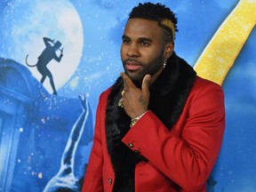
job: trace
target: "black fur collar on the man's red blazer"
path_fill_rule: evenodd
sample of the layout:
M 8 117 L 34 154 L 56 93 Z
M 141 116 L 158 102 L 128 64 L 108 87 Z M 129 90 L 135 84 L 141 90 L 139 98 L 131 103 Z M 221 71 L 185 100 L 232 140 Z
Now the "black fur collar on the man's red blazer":
M 165 124 L 168 130 L 179 119 L 188 93 L 196 77 L 195 70 L 175 53 L 168 60 L 164 71 L 157 77 L 154 84 L 150 85 L 150 101 L 148 109 Z M 106 109 L 106 134 L 108 154 L 116 173 L 115 191 L 134 191 L 135 164 L 147 159 L 127 148 L 122 139 L 130 129 L 131 118 L 119 108 L 117 103 L 121 99 L 123 79 L 117 78 L 116 84 L 108 95 Z M 127 186 L 127 190 L 124 189 Z

